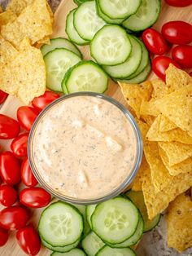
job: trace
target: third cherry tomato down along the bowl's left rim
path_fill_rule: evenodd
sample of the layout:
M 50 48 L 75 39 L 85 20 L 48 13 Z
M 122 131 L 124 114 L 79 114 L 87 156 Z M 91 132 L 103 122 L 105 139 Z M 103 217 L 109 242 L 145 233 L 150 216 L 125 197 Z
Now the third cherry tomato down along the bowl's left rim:
M 15 157 L 25 157 L 28 154 L 28 133 L 19 135 L 11 142 L 11 150 Z

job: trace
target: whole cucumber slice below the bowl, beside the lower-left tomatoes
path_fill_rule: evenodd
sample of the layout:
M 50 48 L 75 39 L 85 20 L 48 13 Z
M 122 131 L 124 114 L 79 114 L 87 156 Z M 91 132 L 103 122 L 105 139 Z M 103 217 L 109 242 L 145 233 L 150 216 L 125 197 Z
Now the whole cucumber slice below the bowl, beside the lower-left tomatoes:
M 42 212 L 38 232 L 46 243 L 62 247 L 80 240 L 83 226 L 80 211 L 72 205 L 58 201 Z

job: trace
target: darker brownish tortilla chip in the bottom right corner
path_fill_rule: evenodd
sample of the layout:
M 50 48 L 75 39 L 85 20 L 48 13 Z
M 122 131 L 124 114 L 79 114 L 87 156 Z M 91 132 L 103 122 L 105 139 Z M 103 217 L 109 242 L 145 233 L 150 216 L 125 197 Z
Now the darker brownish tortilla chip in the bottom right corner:
M 192 246 L 192 201 L 181 194 L 170 203 L 167 214 L 168 247 L 182 252 Z

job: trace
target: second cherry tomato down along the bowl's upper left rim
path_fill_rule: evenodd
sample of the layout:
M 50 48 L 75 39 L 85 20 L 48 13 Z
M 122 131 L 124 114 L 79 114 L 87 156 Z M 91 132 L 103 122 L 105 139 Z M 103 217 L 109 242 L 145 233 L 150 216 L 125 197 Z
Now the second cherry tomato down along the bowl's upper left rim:
M 24 127 L 25 130 L 31 130 L 33 126 L 33 122 L 37 118 L 39 112 L 37 109 L 22 106 L 17 109 L 17 119 L 20 122 L 20 126 Z

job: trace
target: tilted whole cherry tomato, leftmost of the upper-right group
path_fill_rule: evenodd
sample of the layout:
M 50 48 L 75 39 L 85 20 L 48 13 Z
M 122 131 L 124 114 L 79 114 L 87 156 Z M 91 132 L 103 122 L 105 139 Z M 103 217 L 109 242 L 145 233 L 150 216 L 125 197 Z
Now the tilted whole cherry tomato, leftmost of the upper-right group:
M 161 33 L 155 29 L 146 29 L 142 33 L 142 40 L 146 48 L 155 55 L 164 55 L 168 51 L 168 44 Z

